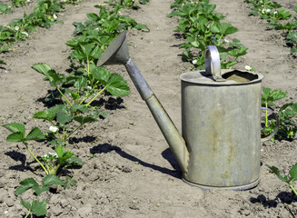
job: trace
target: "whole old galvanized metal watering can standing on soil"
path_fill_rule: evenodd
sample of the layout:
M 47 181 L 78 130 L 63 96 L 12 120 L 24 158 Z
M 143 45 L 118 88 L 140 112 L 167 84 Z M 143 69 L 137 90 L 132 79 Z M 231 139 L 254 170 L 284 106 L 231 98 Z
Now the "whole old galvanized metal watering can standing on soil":
M 262 74 L 221 70 L 217 48 L 208 46 L 205 70 L 180 76 L 182 136 L 130 58 L 126 32 L 99 59 L 98 65 L 108 64 L 124 64 L 182 169 L 184 182 L 206 190 L 245 190 L 259 183 Z

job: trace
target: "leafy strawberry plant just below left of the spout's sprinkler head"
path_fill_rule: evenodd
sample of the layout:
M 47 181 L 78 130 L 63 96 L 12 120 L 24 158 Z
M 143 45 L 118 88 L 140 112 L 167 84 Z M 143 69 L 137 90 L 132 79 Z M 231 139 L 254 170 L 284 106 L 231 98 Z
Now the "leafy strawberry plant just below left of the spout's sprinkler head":
M 87 54 L 84 57 L 88 60 L 91 45 L 87 45 L 86 48 L 89 50 L 85 50 Z M 111 74 L 104 67 L 97 67 L 94 64 L 91 64 L 89 69 L 82 69 L 81 72 L 73 72 L 68 76 L 57 74 L 47 64 L 35 64 L 33 69 L 44 74 L 45 80 L 54 86 L 52 98 L 58 98 L 64 103 L 34 114 L 35 118 L 46 120 L 57 128 L 48 134 L 54 138 L 51 144 L 65 144 L 69 137 L 84 124 L 94 122 L 99 116 L 106 115 L 96 106 L 91 105 L 100 94 L 106 92 L 116 97 L 129 94 L 129 87 L 122 76 Z M 68 87 L 64 87 L 64 84 Z M 69 86 L 70 84 L 73 86 Z M 76 127 L 67 125 L 73 121 L 79 125 Z M 61 134 L 58 130 L 61 130 Z

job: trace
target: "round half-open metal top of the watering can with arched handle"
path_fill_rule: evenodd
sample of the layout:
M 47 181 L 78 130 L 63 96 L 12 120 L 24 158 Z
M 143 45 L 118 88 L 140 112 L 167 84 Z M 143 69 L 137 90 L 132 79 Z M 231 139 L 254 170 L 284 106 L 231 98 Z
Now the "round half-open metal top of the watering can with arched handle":
M 209 45 L 205 49 L 205 71 L 185 73 L 180 78 L 194 84 L 230 85 L 261 82 L 263 76 L 241 70 L 221 70 L 219 51 L 215 45 Z

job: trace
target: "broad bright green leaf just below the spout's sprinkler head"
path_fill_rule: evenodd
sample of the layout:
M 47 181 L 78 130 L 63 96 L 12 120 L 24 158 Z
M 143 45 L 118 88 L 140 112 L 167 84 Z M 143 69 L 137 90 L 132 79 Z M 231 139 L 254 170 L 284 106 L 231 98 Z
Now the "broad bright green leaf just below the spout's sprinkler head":
M 124 78 L 119 74 L 111 74 L 108 84 L 106 84 L 107 92 L 113 94 L 116 97 L 123 97 L 130 94 L 130 88 L 124 81 Z

